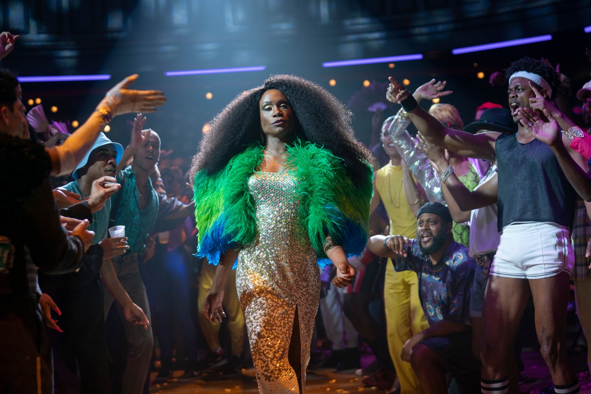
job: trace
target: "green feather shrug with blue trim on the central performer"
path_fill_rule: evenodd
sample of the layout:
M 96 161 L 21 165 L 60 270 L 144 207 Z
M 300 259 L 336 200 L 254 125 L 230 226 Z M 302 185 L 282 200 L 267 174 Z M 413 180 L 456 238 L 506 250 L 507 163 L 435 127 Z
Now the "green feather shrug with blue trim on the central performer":
M 319 265 L 330 263 L 324 253 L 327 236 L 342 245 L 348 256 L 361 255 L 368 239 L 369 203 L 373 194 L 373 171 L 355 187 L 343 168 L 342 159 L 329 149 L 297 141 L 287 146 L 287 167 L 300 182 L 300 226 L 306 229 Z M 256 240 L 255 203 L 248 179 L 263 161 L 262 146 L 248 146 L 223 170 L 207 175 L 197 172 L 194 180 L 195 217 L 199 229 L 196 256 L 217 265 L 220 253 Z

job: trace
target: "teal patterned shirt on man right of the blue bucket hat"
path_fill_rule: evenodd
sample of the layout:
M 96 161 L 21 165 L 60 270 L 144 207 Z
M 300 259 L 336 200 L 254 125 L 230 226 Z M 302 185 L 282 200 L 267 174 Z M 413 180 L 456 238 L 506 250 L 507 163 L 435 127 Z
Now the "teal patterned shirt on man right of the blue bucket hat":
M 144 250 L 144 242 L 148 238 L 148 232 L 156 222 L 158 196 L 152 188 L 152 181 L 148 178 L 150 195 L 147 196 L 146 207 L 141 209 L 138 188 L 135 184 L 135 172 L 131 169 L 131 165 L 119 172 L 117 182 L 121 184 L 121 188 L 111 199 L 118 201 L 118 207 L 112 207 L 109 227 L 125 226 L 125 236 L 128 237 L 127 243 L 129 245 L 126 254 L 139 253 Z M 120 193 L 121 196 L 117 196 Z

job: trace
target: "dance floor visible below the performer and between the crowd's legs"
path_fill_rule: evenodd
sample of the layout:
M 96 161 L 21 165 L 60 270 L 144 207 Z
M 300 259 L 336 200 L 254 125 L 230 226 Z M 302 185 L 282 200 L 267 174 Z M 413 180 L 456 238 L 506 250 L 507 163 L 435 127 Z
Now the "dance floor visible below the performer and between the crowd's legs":
M 591 378 L 587 370 L 586 352 L 573 354 L 570 359 L 581 383 L 581 393 L 591 394 Z M 371 357 L 371 356 L 365 356 Z M 522 382 L 519 385 L 522 393 L 537 394 L 551 384 L 550 373 L 542 360 L 540 353 L 535 350 L 524 349 L 522 360 L 525 370 L 521 373 Z M 363 364 L 371 361 L 363 360 Z M 177 371 L 176 376 L 182 372 Z M 152 377 L 155 377 L 155 373 Z M 151 393 L 161 394 L 226 394 L 226 393 L 258 393 L 254 370 L 242 370 L 238 377 L 227 378 L 216 373 L 204 375 L 201 379 L 190 383 L 152 383 Z M 307 374 L 306 392 L 315 393 L 384 393 L 376 388 L 364 387 L 361 376 L 353 373 L 336 373 L 335 370 L 309 371 Z

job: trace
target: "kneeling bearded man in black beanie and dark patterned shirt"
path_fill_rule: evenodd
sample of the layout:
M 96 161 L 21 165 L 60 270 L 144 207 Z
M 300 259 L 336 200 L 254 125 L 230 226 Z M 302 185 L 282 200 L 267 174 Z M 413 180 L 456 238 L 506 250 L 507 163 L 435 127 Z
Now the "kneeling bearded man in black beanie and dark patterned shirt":
M 430 325 L 404 344 L 400 357 L 410 362 L 426 393 L 447 393 L 446 373 L 462 392 L 478 392 L 480 362 L 472 354 L 470 286 L 476 262 L 453 240 L 452 215 L 441 203 L 417 212 L 417 238 L 371 237 L 368 248 L 392 259 L 396 271 L 415 271 L 421 306 Z

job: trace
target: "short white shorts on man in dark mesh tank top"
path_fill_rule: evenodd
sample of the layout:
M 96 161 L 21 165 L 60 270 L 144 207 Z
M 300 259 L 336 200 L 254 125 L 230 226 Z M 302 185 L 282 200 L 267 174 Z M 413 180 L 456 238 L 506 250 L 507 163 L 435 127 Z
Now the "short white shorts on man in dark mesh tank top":
M 574 252 L 566 227 L 549 223 L 509 224 L 491 265 L 491 275 L 541 279 L 573 271 Z

